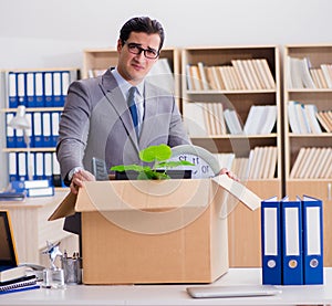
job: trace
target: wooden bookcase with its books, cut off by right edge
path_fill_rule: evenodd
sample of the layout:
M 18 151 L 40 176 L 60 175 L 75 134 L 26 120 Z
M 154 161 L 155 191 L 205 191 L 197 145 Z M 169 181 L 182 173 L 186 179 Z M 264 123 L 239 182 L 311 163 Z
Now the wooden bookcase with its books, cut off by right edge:
M 331 63 L 331 44 L 284 46 L 286 193 L 290 198 L 304 193 L 323 200 L 324 266 L 332 265 L 332 133 L 320 122 L 314 128 L 305 109 L 310 106 L 314 114 L 332 110 L 332 84 L 330 75 L 323 73 Z M 317 72 L 323 81 L 317 78 Z

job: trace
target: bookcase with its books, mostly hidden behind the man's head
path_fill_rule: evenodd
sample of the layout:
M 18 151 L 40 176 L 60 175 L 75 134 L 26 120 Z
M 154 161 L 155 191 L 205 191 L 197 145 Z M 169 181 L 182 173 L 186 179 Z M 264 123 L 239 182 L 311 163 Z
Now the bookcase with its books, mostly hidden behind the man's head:
M 115 67 L 117 64 L 116 49 L 86 49 L 83 51 L 83 71 L 82 77 L 91 77 L 102 74 L 108 67 Z M 169 88 L 176 98 L 177 106 L 180 109 L 180 52 L 176 48 L 162 49 L 159 60 L 154 65 L 149 75 L 159 86 Z M 172 74 L 169 74 L 169 68 Z M 153 78 L 151 81 L 153 81 Z

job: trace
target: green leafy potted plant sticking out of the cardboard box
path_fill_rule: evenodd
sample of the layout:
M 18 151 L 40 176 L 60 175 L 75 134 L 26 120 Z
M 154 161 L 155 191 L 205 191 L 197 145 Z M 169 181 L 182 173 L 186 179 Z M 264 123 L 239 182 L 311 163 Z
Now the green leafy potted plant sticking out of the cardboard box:
M 139 159 L 146 163 L 153 163 L 152 166 L 141 165 L 118 165 L 111 168 L 112 171 L 117 173 L 124 173 L 125 177 L 133 177 L 133 172 L 136 179 L 141 180 L 165 180 L 172 178 L 172 170 L 178 166 L 194 166 L 194 163 L 186 160 L 169 160 L 172 157 L 172 149 L 167 145 L 149 146 L 139 151 Z M 180 176 L 184 178 L 187 170 L 179 170 Z M 129 176 L 127 176 L 129 173 Z M 177 172 L 178 175 L 178 172 Z

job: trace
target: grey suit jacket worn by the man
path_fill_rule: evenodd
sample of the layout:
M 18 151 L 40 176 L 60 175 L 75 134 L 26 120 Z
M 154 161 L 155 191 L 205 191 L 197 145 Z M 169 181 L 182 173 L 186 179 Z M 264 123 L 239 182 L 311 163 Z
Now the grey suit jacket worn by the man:
M 137 140 L 126 101 L 110 70 L 71 84 L 60 122 L 62 178 L 74 167 L 91 171 L 92 157 L 115 165 L 139 162 L 138 151 L 159 144 L 189 144 L 174 96 L 145 82 L 145 113 Z

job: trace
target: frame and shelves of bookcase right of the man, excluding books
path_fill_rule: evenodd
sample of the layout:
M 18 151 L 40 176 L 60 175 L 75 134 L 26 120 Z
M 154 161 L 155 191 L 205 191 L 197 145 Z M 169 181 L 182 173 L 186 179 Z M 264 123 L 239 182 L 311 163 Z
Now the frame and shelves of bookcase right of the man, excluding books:
M 266 59 L 274 80 L 273 88 L 237 88 L 237 89 L 188 89 L 189 66 L 203 63 L 205 67 L 229 66 L 232 60 Z M 279 50 L 274 45 L 267 46 L 221 46 L 189 48 L 181 53 L 183 72 L 183 115 L 186 120 L 186 108 L 191 103 L 221 103 L 222 109 L 235 109 L 242 123 L 246 122 L 252 105 L 274 105 L 277 120 L 272 133 L 266 135 L 191 135 L 195 145 L 205 147 L 211 152 L 234 152 L 236 158 L 249 158 L 250 150 L 256 147 L 277 147 L 277 167 L 273 178 L 241 178 L 253 192 L 262 199 L 281 196 L 281 103 L 280 103 L 280 64 Z M 193 80 L 194 81 L 194 80 Z M 195 81 L 194 81 L 195 82 Z M 194 120 L 195 122 L 195 120 Z M 229 218 L 229 263 L 230 266 L 260 266 L 260 211 L 251 212 L 237 205 Z

